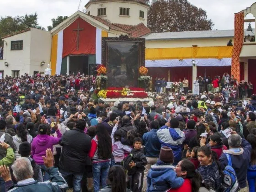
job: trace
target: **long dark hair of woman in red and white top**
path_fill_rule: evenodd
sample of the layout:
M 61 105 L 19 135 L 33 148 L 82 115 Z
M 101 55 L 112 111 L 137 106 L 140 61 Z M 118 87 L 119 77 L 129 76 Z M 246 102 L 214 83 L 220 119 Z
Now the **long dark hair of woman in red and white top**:
M 112 154 L 112 139 L 103 123 L 98 123 L 96 127 L 98 138 L 98 155 L 100 158 L 108 159 Z

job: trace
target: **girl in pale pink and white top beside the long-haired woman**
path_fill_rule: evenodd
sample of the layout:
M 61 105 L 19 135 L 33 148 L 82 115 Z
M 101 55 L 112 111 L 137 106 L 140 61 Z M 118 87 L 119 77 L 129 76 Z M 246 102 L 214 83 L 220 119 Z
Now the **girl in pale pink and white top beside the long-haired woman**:
M 114 135 L 112 135 L 112 146 L 112 154 L 115 158 L 116 165 L 121 165 L 121 161 L 125 158 L 125 155 L 131 153 L 133 149 L 130 146 L 121 143 L 120 131 L 116 131 Z

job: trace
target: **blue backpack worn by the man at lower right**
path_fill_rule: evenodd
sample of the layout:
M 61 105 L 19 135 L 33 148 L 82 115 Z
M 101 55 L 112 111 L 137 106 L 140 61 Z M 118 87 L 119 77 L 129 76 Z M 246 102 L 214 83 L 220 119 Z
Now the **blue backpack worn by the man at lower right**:
M 237 192 L 240 190 L 239 183 L 235 174 L 235 170 L 232 167 L 232 160 L 229 154 L 224 153 L 228 159 L 228 165 L 225 167 L 223 173 L 224 178 L 221 183 L 223 192 Z

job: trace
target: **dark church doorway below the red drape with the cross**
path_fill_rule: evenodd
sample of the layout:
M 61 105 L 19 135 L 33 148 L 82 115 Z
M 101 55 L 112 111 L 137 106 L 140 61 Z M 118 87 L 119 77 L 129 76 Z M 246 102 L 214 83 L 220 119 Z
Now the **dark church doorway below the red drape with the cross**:
M 69 74 L 77 74 L 80 71 L 80 74 L 88 75 L 88 55 L 82 56 L 70 56 L 69 57 Z

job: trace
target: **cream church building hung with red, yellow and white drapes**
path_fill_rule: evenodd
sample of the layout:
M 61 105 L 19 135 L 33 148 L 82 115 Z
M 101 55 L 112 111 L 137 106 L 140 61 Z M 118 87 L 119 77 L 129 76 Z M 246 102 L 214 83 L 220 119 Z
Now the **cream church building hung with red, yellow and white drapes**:
M 235 24 L 235 30 L 163 33 L 151 33 L 147 27 L 149 5 L 144 0 L 90 0 L 85 8 L 86 13 L 75 12 L 50 32 L 29 28 L 3 37 L 0 77 L 43 74 L 47 64 L 52 75 L 78 71 L 91 75 L 93 66 L 101 64 L 102 37 L 128 35 L 145 38 L 145 66 L 153 79 L 165 77 L 174 82 L 187 77 L 192 89 L 197 76 L 213 78 L 225 72 L 231 74 L 232 70 L 236 78 L 256 85 L 256 79 L 248 72 L 256 63 L 256 53 L 252 51 L 256 44 L 244 42 L 244 36 L 249 34 L 244 30 L 244 17 L 251 11 L 255 16 L 256 3 L 240 12 L 239 29 Z M 235 22 L 236 18 L 237 15 Z M 240 43 L 236 39 L 238 33 Z M 253 29 L 250 35 L 255 37 Z M 230 40 L 233 44 L 227 46 Z

